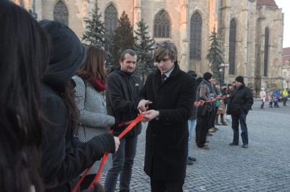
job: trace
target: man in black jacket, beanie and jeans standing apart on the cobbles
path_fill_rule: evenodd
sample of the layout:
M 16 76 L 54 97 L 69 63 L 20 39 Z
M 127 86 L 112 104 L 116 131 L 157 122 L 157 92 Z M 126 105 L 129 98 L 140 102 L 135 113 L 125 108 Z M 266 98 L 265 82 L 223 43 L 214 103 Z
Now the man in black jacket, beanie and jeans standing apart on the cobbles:
M 245 123 L 247 114 L 254 103 L 252 92 L 244 84 L 243 76 L 236 78 L 236 88 L 233 89 L 233 93 L 228 103 L 226 114 L 231 114 L 231 128 L 233 128 L 233 142 L 231 146 L 238 145 L 238 123 L 240 121 L 240 129 L 242 133 L 240 136 L 243 140 L 242 148 L 248 148 L 248 128 Z

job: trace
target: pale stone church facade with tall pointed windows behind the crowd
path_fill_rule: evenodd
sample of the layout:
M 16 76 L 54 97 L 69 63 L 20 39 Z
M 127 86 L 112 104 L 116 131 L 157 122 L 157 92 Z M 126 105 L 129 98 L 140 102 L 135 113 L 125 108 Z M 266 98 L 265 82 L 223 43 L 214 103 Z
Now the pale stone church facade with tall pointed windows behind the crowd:
M 60 20 L 80 38 L 91 18 L 95 0 L 13 0 L 37 20 Z M 106 32 L 113 32 L 125 11 L 137 30 L 144 19 L 156 42 L 170 40 L 178 47 L 184 71 L 210 71 L 209 35 L 216 29 L 224 56 L 226 83 L 244 76 L 245 84 L 260 90 L 282 88 L 284 15 L 274 0 L 97 0 Z

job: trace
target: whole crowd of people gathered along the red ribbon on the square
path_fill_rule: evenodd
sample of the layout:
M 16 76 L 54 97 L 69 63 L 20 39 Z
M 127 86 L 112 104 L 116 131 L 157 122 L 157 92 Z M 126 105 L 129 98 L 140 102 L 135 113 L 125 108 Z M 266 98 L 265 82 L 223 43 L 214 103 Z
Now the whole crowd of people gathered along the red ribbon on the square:
M 129 191 L 141 121 L 148 122 L 144 172 L 153 192 L 182 191 L 187 165 L 196 161 L 190 152 L 194 128 L 197 148 L 209 150 L 207 136 L 216 126 L 227 126 L 225 116 L 231 115 L 229 145 L 239 144 L 240 124 L 242 147 L 248 148 L 246 116 L 253 95 L 243 76 L 220 85 L 209 72 L 199 78 L 195 71 L 185 73 L 175 44 L 165 41 L 153 45 L 157 68 L 143 85 L 134 75 L 132 49 L 122 52 L 119 66 L 108 74 L 103 49 L 83 47 L 62 23 L 37 23 L 4 0 L 0 25 L 5 26 L 0 30 L 0 191 L 73 191 L 88 167 L 76 191 L 112 192 L 118 178 L 120 191 Z M 279 107 L 277 90 L 261 92 L 261 108 L 266 98 Z M 118 138 L 139 114 L 141 121 Z M 87 189 L 107 152 L 104 187 L 95 183 Z

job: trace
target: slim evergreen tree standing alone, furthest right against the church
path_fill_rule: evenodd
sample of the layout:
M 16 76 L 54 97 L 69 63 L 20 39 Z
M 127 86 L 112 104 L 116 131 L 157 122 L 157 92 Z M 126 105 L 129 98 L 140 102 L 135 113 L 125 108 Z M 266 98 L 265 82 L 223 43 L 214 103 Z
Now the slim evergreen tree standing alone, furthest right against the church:
M 224 64 L 224 60 L 222 58 L 222 52 L 219 45 L 219 38 L 216 34 L 216 28 L 214 31 L 211 32 L 209 36 L 209 40 L 211 42 L 208 53 L 207 53 L 207 60 L 209 61 L 211 71 L 214 73 L 213 76 L 216 78 L 216 81 L 221 83 L 224 80 L 224 76 L 221 76 L 219 70 L 221 69 L 221 64 Z M 224 70 L 224 69 L 223 69 Z

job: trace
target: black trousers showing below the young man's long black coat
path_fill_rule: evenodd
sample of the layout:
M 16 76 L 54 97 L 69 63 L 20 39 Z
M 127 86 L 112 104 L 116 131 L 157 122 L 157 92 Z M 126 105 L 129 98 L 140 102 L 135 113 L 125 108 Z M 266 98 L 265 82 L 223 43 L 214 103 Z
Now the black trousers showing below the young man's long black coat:
M 185 181 L 162 181 L 151 179 L 151 192 L 183 192 Z

